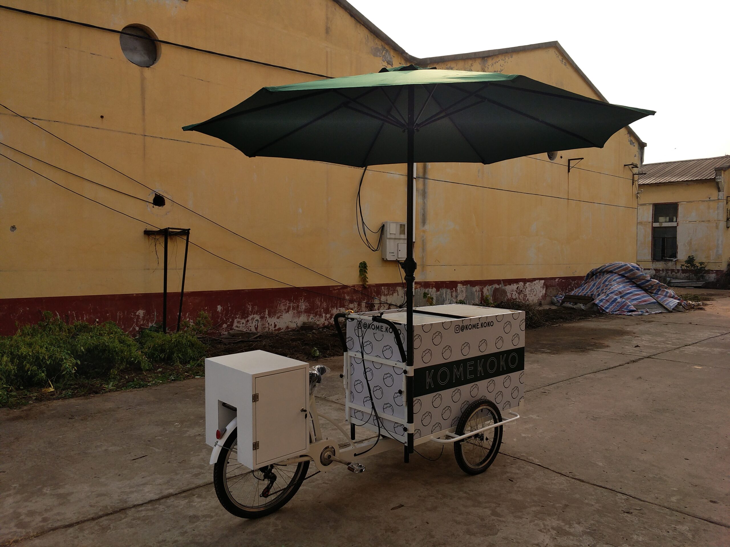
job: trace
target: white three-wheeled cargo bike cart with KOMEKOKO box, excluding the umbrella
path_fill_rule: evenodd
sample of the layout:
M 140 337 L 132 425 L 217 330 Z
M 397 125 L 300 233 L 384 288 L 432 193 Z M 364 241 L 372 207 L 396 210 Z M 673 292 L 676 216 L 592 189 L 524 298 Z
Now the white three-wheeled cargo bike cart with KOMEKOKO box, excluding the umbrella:
M 349 435 L 317 410 L 323 366 L 261 351 L 206 360 L 205 438 L 215 492 L 228 511 L 245 518 L 276 511 L 307 478 L 310 462 L 318 471 L 337 463 L 358 473 L 364 466 L 356 458 L 402 447 L 407 462 L 409 447 L 427 441 L 453 443 L 466 473 L 491 465 L 502 427 L 520 417 L 515 409 L 524 399 L 524 311 L 451 304 L 415 308 L 413 317 L 409 367 L 404 310 L 335 316 Z M 323 437 L 320 418 L 345 442 Z M 356 427 L 374 435 L 353 442 Z

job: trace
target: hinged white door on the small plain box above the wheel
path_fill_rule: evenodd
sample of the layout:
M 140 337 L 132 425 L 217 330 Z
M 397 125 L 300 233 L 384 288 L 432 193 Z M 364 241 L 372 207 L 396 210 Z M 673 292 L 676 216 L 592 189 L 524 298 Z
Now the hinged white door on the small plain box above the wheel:
M 280 372 L 255 379 L 256 465 L 273 463 L 307 451 L 307 369 Z

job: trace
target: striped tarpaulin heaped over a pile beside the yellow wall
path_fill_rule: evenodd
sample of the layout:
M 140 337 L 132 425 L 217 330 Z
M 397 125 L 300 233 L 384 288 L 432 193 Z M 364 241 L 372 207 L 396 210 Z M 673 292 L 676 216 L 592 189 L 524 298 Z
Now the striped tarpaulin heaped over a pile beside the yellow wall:
M 673 310 L 683 300 L 664 283 L 651 279 L 637 264 L 612 262 L 589 271 L 583 284 L 569 295 L 590 296 L 593 303 L 606 314 L 646 315 L 661 313 L 662 309 L 642 309 L 642 306 L 664 304 Z M 556 302 L 563 301 L 557 296 Z

